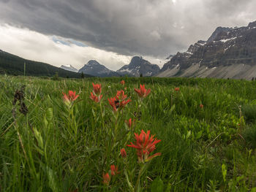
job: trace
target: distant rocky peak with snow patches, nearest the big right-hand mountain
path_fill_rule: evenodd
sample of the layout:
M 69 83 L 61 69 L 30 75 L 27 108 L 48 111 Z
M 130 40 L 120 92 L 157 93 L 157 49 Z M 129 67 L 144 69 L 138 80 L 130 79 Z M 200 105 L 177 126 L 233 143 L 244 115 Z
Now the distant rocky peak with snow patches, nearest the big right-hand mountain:
M 156 64 L 151 64 L 150 62 L 144 60 L 140 56 L 135 56 L 132 58 L 129 65 L 122 66 L 121 69 L 118 69 L 116 72 L 121 75 L 128 75 L 131 77 L 139 77 L 140 74 L 143 74 L 143 77 L 154 76 L 158 74 L 160 68 Z

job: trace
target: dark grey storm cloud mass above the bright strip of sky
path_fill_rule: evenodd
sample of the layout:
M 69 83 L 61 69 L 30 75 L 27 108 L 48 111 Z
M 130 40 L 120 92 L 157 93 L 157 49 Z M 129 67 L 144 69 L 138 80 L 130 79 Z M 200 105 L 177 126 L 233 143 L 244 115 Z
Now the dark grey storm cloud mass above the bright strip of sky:
M 217 26 L 255 20 L 253 0 L 0 0 L 0 20 L 124 55 L 165 57 Z

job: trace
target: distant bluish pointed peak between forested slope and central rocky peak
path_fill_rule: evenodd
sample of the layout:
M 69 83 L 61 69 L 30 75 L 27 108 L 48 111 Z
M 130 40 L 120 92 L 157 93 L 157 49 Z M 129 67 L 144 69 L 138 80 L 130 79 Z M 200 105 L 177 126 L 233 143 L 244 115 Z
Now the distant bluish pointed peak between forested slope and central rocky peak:
M 78 71 L 79 73 L 83 74 L 90 74 L 92 76 L 97 77 L 119 77 L 120 74 L 117 72 L 111 71 L 104 65 L 99 64 L 95 60 L 88 61 L 87 64 L 85 64 L 81 69 Z

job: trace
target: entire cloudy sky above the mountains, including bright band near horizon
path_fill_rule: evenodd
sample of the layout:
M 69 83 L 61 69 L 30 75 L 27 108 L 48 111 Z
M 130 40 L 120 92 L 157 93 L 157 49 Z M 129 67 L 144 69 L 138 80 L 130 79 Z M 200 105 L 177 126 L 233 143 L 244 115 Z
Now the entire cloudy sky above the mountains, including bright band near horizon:
M 133 55 L 162 66 L 217 26 L 247 26 L 255 9 L 255 0 L 0 0 L 0 49 L 78 69 L 96 59 L 116 70 Z

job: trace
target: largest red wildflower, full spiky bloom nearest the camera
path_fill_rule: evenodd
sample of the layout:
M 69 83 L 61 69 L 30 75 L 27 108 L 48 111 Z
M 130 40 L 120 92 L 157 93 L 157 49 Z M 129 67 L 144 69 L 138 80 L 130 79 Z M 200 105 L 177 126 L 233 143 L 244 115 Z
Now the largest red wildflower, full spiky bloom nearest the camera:
M 154 155 L 148 156 L 151 152 L 156 149 L 156 144 L 161 142 L 154 138 L 154 135 L 149 137 L 150 131 L 141 130 L 140 135 L 135 133 L 136 145 L 131 142 L 131 145 L 128 147 L 134 147 L 137 149 L 137 155 L 140 162 L 144 163 L 145 161 L 150 161 L 152 158 L 161 155 L 161 153 L 155 153 Z

